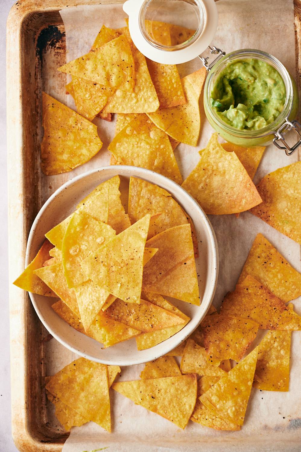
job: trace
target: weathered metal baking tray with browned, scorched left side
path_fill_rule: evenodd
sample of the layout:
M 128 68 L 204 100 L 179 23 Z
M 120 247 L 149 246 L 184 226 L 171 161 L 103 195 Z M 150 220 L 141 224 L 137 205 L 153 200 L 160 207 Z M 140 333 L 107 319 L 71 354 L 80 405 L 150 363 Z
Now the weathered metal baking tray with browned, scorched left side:
M 43 89 L 66 103 L 65 75 L 56 70 L 65 63 L 66 56 L 64 26 L 59 10 L 76 4 L 100 3 L 123 1 L 18 1 L 10 12 L 7 24 L 12 424 L 14 441 L 20 451 L 59 452 L 68 436 L 45 400 L 43 377 L 60 370 L 72 358 L 71 352 L 49 338 L 28 294 L 11 282 L 23 271 L 30 226 L 40 207 L 59 186 L 73 177 L 72 173 L 67 173 L 46 178 L 39 168 L 42 133 L 39 94 Z M 301 0 L 295 0 L 295 25 L 297 81 L 300 81 Z M 301 420 L 295 427 L 301 427 Z M 116 440 L 122 441 L 122 438 L 115 438 L 114 441 L 114 450 L 118 452 Z M 232 444 L 235 451 L 268 451 L 276 450 L 272 448 L 276 443 L 279 444 L 277 450 L 298 450 L 293 429 L 287 433 L 267 431 L 265 438 L 258 438 L 254 431 L 253 437 L 246 438 L 244 444 L 238 443 L 231 434 L 214 438 L 214 442 L 212 440 L 196 438 L 195 442 L 191 438 L 190 443 L 191 446 L 198 444 L 204 451 L 213 451 L 216 447 L 222 450 L 223 444 Z M 168 447 L 168 443 L 164 446 Z M 176 445 L 169 446 L 174 448 Z

